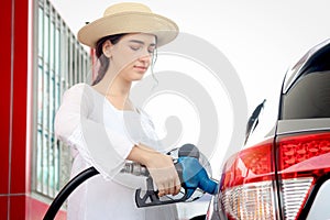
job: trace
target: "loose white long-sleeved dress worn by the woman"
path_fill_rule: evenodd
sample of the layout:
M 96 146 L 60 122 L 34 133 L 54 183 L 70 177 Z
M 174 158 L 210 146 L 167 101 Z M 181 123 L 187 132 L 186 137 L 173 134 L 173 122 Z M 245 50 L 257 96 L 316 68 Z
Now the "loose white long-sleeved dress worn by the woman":
M 90 166 L 100 173 L 69 196 L 68 220 L 177 219 L 175 205 L 136 208 L 135 189 L 145 188 L 145 177 L 120 173 L 135 144 L 165 151 L 143 111 L 118 110 L 91 86 L 77 84 L 64 94 L 55 134 L 72 147 L 72 177 Z

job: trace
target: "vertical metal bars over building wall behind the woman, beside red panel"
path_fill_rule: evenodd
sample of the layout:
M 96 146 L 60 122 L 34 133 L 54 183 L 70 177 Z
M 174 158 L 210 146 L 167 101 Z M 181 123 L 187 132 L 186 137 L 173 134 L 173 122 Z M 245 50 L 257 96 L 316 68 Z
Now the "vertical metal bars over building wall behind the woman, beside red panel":
M 63 92 L 85 81 L 90 55 L 48 0 L 34 1 L 33 190 L 54 198 L 69 178 L 69 148 L 54 135 L 54 117 Z

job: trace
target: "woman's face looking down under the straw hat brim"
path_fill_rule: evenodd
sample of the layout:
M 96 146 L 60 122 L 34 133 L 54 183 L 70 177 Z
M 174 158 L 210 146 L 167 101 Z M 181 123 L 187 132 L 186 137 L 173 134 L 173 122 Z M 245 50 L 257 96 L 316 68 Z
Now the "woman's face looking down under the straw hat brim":
M 152 34 L 127 34 L 111 45 L 110 69 L 128 81 L 140 80 L 151 65 L 156 47 Z

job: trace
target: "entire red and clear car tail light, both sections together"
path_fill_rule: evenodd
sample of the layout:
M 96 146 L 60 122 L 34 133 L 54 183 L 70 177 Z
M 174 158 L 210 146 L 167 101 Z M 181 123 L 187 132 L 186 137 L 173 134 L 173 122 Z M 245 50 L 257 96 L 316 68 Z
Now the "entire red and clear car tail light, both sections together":
M 270 139 L 227 162 L 219 205 L 229 219 L 277 219 L 283 207 L 282 219 L 295 220 L 318 178 L 330 172 L 330 133 L 278 138 L 274 146 Z

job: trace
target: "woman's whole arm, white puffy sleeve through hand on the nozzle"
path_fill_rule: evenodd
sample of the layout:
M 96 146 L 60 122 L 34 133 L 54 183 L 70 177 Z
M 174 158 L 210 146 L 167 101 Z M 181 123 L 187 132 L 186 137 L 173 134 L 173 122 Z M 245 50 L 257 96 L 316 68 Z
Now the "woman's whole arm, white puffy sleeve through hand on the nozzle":
M 130 160 L 147 167 L 160 196 L 177 194 L 180 183 L 172 157 L 90 120 L 95 103 L 88 89 L 87 85 L 76 85 L 65 92 L 55 117 L 56 136 L 66 145 L 76 147 L 84 160 L 107 179 L 112 179 L 125 160 Z

